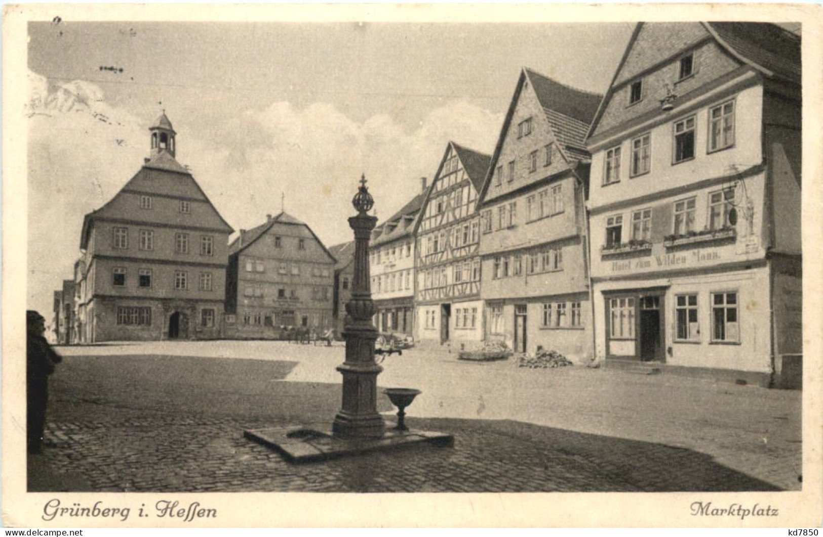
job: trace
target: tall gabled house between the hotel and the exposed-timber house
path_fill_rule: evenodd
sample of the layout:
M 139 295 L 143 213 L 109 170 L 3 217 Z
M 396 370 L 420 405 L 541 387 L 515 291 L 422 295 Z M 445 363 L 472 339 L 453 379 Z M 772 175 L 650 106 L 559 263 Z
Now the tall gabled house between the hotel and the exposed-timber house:
M 523 69 L 481 193 L 486 338 L 590 357 L 589 123 L 601 95 Z

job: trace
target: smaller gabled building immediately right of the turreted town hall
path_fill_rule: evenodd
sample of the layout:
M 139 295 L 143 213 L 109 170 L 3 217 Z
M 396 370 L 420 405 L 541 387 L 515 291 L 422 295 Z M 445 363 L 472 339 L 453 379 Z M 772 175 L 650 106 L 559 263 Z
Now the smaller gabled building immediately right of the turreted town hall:
M 240 230 L 229 246 L 226 337 L 286 339 L 332 328 L 334 256 L 287 213 Z

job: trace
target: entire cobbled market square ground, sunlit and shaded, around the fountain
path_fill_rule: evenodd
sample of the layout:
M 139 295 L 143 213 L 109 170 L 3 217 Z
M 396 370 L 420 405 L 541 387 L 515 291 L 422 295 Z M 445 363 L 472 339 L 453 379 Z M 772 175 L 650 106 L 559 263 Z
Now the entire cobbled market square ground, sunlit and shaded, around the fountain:
M 57 489 L 800 489 L 799 392 L 404 352 L 384 362 L 380 385 L 421 388 L 410 425 L 454 434 L 454 448 L 294 466 L 242 431 L 331 421 L 342 348 L 211 342 L 62 351 L 49 407 L 54 445 L 35 457 L 35 468 L 71 476 Z M 382 396 L 379 410 L 391 411 Z M 31 486 L 55 489 L 43 480 Z

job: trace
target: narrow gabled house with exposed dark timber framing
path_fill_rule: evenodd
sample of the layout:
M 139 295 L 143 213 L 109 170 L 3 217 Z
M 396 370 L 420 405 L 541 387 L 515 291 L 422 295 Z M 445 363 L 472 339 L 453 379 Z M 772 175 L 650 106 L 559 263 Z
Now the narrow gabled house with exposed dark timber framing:
M 417 340 L 477 347 L 483 338 L 477 195 L 490 156 L 449 142 L 417 226 Z

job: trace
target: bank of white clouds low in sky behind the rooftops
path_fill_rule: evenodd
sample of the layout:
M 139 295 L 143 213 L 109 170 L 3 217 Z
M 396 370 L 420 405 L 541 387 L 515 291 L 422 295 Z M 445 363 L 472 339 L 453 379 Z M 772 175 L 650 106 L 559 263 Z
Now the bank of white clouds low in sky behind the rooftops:
M 30 95 L 30 298 L 50 310 L 51 291 L 72 277 L 83 215 L 137 172 L 154 118 L 110 106 L 99 87 L 83 81 L 49 88 L 32 73 Z M 285 193 L 286 212 L 331 246 L 352 238 L 346 218 L 361 173 L 379 217 L 388 217 L 416 195 L 420 177 L 431 179 L 449 140 L 491 152 L 502 120 L 455 101 L 407 131 L 384 113 L 356 122 L 328 103 L 295 109 L 277 102 L 216 126 L 225 132 L 220 145 L 179 132 L 177 156 L 236 229 L 279 212 Z

